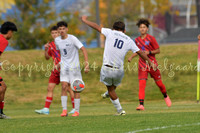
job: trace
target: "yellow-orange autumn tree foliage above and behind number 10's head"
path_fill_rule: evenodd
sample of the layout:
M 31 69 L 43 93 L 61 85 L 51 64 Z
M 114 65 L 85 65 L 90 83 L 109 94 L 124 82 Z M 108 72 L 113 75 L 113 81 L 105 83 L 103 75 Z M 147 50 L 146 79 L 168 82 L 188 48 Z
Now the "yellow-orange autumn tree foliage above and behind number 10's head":
M 116 20 L 121 20 L 126 21 L 127 29 L 131 29 L 139 18 L 145 17 L 152 20 L 154 15 L 164 14 L 170 10 L 170 7 L 169 0 L 99 0 L 101 25 L 110 28 Z M 90 19 L 96 21 L 95 1 L 91 3 L 90 13 Z M 130 30 L 128 34 L 133 34 L 133 30 Z M 88 40 L 91 41 L 95 36 L 95 32 L 92 32 Z

